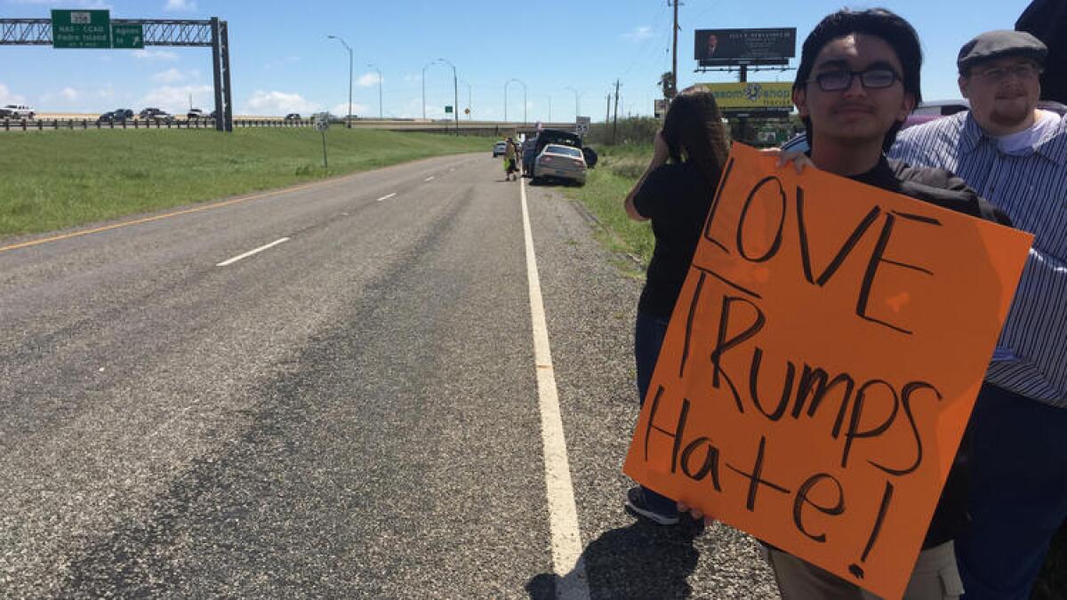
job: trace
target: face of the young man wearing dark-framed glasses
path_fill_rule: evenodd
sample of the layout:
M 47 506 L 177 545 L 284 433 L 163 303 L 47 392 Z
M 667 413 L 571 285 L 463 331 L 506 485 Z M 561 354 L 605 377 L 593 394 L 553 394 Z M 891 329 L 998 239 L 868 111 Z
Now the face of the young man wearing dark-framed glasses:
M 875 77 L 860 75 L 886 70 L 894 76 L 886 86 Z M 914 108 L 914 95 L 904 91 L 903 73 L 892 46 L 880 37 L 851 33 L 823 46 L 811 77 L 803 88 L 794 91 L 793 101 L 801 117 L 811 119 L 813 141 L 857 145 L 877 140 L 880 144 L 893 123 L 904 121 Z M 849 74 L 847 88 L 824 89 L 826 83 L 847 79 Z

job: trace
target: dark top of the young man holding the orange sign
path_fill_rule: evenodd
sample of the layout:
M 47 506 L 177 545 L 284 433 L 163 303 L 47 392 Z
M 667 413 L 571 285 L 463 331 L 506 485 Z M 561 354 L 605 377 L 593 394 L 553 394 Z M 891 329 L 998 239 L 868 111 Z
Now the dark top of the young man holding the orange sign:
M 1003 225 L 1012 224 L 1007 215 L 967 187 L 962 179 L 943 169 L 909 167 L 899 160 L 887 160 L 882 157 L 871 171 L 849 178 L 972 217 Z M 926 530 L 926 539 L 923 540 L 924 549 L 955 539 L 967 527 L 968 454 L 970 427 L 964 432 L 944 488 L 941 489 L 941 498 L 938 499 L 934 518 Z

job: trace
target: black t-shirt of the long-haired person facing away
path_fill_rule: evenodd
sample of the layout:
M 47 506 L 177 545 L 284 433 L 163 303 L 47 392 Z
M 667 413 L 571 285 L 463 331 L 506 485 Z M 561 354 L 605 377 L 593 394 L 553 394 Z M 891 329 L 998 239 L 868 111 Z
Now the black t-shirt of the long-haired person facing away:
M 656 246 L 638 311 L 670 318 L 714 194 L 714 187 L 690 162 L 664 164 L 646 177 L 634 196 L 634 207 L 642 217 L 652 219 Z

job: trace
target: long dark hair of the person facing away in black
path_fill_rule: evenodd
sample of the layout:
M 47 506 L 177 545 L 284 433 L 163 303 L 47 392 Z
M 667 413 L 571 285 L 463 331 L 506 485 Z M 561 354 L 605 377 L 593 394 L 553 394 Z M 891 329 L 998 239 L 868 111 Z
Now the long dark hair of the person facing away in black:
M 695 86 L 674 96 L 662 136 L 671 160 L 696 163 L 713 189 L 718 185 L 730 151 L 722 114 L 710 91 Z

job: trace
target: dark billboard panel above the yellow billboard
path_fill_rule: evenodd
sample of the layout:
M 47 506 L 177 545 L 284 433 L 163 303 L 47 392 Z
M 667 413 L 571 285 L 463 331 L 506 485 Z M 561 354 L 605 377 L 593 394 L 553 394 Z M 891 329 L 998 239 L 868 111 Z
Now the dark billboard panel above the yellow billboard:
M 701 66 L 789 64 L 796 56 L 797 30 L 698 29 L 694 58 Z

